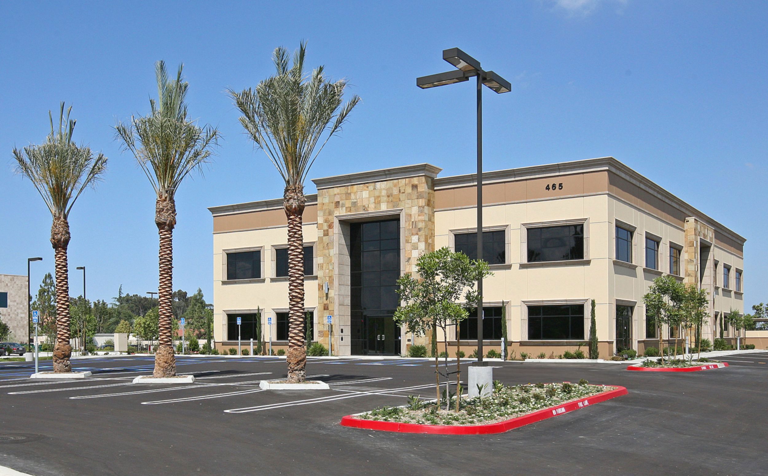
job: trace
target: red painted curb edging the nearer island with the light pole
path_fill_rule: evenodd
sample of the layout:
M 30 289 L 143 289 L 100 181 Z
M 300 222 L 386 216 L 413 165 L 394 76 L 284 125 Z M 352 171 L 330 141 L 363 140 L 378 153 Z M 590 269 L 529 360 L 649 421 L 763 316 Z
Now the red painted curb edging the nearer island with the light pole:
M 573 412 L 595 403 L 605 402 L 611 398 L 627 395 L 627 388 L 618 385 L 605 386 L 616 387 L 616 389 L 489 425 L 417 425 L 415 423 L 399 423 L 398 421 L 363 420 L 362 418 L 355 418 L 353 415 L 346 415 L 346 417 L 342 418 L 341 425 L 350 428 L 365 428 L 367 430 L 425 433 L 430 435 L 490 435 L 492 433 L 504 433 L 505 431 L 530 425 L 537 421 L 564 415 L 565 413 Z

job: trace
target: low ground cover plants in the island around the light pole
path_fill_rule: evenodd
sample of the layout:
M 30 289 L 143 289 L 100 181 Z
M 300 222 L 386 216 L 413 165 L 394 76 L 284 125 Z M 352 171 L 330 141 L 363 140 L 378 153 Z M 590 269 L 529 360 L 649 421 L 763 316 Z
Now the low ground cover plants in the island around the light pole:
M 495 381 L 493 392 L 483 397 L 462 398 L 458 412 L 438 408 L 435 402 L 423 402 L 409 395 L 409 404 L 402 407 L 381 407 L 355 418 L 373 421 L 398 421 L 417 425 L 487 425 L 517 418 L 544 408 L 561 405 L 579 398 L 598 395 L 616 387 L 589 385 L 583 378 L 573 383 L 537 383 L 535 385 L 503 385 Z M 451 396 L 455 402 L 455 396 Z

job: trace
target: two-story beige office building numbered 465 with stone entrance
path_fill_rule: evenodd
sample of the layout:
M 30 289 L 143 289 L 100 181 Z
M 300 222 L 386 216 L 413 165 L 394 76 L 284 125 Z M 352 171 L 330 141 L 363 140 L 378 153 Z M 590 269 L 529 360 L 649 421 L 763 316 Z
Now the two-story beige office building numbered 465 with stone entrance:
M 438 177 L 430 164 L 313 180 L 303 215 L 305 306 L 313 339 L 336 355 L 397 355 L 427 338 L 392 322 L 395 280 L 442 246 L 476 257 L 475 174 Z M 681 178 L 681 180 L 683 180 Z M 644 293 L 657 276 L 707 289 L 704 338 L 743 312 L 745 239 L 613 157 L 484 174 L 485 349 L 498 349 L 502 310 L 509 349 L 560 355 L 588 339 L 597 305 L 601 357 L 658 345 Z M 211 207 L 214 338 L 218 347 L 256 335 L 256 311 L 274 347 L 287 345 L 287 227 L 283 200 Z M 326 292 L 327 284 L 327 292 Z M 505 308 L 505 309 L 504 309 Z M 272 318 L 272 326 L 266 326 Z M 477 317 L 449 331 L 467 353 Z M 664 330 L 664 338 L 669 329 Z M 723 335 L 733 337 L 727 329 Z M 442 349 L 444 336 L 438 336 Z

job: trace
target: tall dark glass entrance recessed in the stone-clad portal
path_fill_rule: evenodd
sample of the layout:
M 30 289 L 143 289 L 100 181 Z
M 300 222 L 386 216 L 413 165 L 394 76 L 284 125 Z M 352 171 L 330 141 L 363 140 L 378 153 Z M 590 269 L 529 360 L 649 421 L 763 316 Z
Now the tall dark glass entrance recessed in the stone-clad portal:
M 397 355 L 400 222 L 349 224 L 350 331 L 353 355 Z

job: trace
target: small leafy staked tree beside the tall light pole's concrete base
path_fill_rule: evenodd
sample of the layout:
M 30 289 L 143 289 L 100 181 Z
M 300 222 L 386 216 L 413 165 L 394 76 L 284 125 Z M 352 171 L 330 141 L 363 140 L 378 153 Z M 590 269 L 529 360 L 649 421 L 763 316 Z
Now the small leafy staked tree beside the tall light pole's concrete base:
M 424 336 L 439 327 L 445 338 L 446 409 L 450 405 L 448 388 L 448 327 L 458 326 L 467 319 L 467 307 L 476 306 L 479 294 L 475 290 L 478 279 L 492 273 L 488 263 L 482 259 L 471 260 L 464 253 L 454 253 L 446 247 L 419 256 L 416 261 L 419 278 L 406 273 L 397 280 L 398 293 L 404 303 L 395 311 L 394 320 L 398 326 L 405 327 L 415 336 Z M 463 301 L 463 303 L 459 302 Z M 478 312 L 479 319 L 480 312 Z M 457 328 L 458 329 L 458 328 Z M 434 334 L 433 334 L 434 336 Z M 458 336 L 456 336 L 456 409 L 461 400 L 458 382 L 461 376 L 458 359 Z M 435 352 L 435 394 L 440 405 L 440 368 Z

